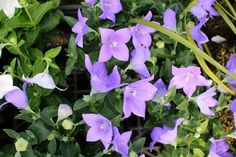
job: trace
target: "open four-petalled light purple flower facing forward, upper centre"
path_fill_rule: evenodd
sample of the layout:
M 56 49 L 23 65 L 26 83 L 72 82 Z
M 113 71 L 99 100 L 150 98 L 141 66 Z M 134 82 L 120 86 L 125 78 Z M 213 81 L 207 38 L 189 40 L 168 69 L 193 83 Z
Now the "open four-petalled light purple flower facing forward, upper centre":
M 112 29 L 101 28 L 102 47 L 100 49 L 99 61 L 106 62 L 115 57 L 121 61 L 129 60 L 129 49 L 125 45 L 131 38 L 128 28 L 114 31 Z

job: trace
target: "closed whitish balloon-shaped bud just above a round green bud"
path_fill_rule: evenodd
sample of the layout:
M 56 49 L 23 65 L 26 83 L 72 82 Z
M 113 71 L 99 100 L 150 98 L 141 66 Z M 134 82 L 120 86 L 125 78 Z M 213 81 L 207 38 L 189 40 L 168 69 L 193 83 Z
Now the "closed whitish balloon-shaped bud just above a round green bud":
M 60 104 L 57 111 L 57 121 L 65 119 L 73 114 L 71 107 L 67 104 Z

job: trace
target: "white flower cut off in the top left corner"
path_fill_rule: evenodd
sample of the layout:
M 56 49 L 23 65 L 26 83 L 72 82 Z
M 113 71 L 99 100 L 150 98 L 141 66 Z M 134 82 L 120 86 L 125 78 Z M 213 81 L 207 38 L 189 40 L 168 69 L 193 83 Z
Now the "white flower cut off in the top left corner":
M 3 10 L 8 18 L 14 16 L 15 8 L 22 8 L 18 0 L 0 0 L 0 10 Z

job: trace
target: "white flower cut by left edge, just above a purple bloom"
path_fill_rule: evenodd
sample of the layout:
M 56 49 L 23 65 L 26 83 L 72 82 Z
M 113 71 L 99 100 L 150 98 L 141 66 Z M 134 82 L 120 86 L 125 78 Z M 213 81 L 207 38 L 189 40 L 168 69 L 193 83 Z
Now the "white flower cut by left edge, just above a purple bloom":
M 0 99 L 2 99 L 8 92 L 18 89 L 13 86 L 13 79 L 9 74 L 0 75 Z

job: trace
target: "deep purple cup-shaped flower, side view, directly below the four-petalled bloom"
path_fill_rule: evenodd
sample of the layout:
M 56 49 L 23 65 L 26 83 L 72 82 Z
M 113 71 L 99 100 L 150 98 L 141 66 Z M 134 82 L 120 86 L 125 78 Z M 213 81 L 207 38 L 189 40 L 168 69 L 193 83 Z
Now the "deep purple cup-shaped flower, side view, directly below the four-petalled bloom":
M 85 55 L 85 66 L 91 75 L 91 87 L 94 91 L 106 93 L 114 88 L 118 88 L 124 84 L 120 84 L 121 78 L 117 66 L 115 66 L 110 75 L 107 75 L 107 69 L 104 62 L 96 62 L 92 65 L 89 56 Z

